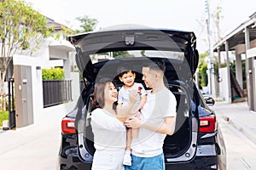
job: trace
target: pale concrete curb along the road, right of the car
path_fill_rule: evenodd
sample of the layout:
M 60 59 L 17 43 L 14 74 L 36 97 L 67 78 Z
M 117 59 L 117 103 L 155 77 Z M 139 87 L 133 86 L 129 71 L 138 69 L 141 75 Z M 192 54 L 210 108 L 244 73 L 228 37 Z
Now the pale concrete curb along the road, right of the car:
M 230 118 L 229 116 L 222 116 L 224 121 L 229 122 L 232 127 L 235 127 L 238 131 L 243 133 L 248 139 L 250 139 L 254 144 L 256 144 L 256 137 L 253 135 L 253 131 L 243 127 L 240 123 L 236 122 L 235 118 Z

